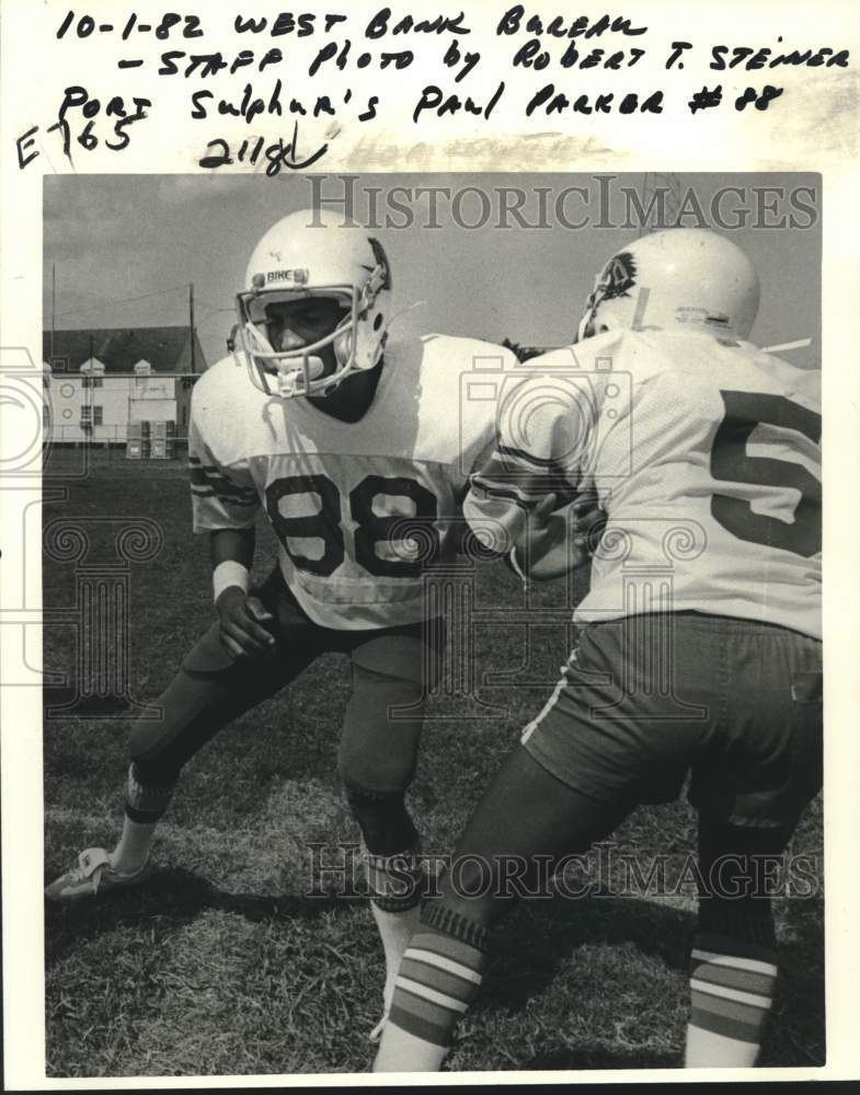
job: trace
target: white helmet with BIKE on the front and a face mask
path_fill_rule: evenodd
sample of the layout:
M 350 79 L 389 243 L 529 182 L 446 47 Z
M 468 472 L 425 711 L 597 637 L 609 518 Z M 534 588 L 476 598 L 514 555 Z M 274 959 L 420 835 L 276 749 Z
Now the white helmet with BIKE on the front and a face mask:
M 244 290 L 237 296 L 239 323 L 229 345 L 236 354 L 238 342 L 252 382 L 266 394 L 325 394 L 381 358 L 390 290 L 391 270 L 378 240 L 344 226 L 337 216 L 302 209 L 273 224 L 254 247 Z M 318 342 L 275 350 L 266 309 L 308 297 L 341 301 L 343 320 Z M 336 369 L 323 376 L 319 351 L 330 345 Z

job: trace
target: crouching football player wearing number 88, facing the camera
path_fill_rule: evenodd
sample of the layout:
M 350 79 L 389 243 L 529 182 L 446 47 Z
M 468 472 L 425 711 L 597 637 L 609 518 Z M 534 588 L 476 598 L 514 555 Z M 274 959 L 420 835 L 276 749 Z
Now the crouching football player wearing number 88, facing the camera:
M 314 223 L 316 221 L 316 223 Z M 139 881 L 183 764 L 225 724 L 320 655 L 352 662 L 339 772 L 368 853 L 371 908 L 393 975 L 416 923 L 417 887 L 390 868 L 418 833 L 405 805 L 444 621 L 426 621 L 425 568 L 455 551 L 471 465 L 492 447 L 494 407 L 460 407 L 485 343 L 387 341 L 391 272 L 380 243 L 310 210 L 254 249 L 238 295 L 237 351 L 194 389 L 194 528 L 210 540 L 218 621 L 131 733 L 125 823 L 48 887 L 56 900 Z M 277 565 L 249 588 L 265 514 Z M 288 730 L 287 730 L 288 733 Z

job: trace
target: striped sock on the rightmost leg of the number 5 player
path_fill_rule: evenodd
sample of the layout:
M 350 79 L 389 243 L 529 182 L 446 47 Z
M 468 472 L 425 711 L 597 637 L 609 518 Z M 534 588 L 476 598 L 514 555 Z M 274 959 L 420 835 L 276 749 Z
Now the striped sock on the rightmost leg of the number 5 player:
M 692 1010 L 685 1067 L 755 1064 L 776 980 L 777 955 L 771 947 L 698 934 L 691 955 Z

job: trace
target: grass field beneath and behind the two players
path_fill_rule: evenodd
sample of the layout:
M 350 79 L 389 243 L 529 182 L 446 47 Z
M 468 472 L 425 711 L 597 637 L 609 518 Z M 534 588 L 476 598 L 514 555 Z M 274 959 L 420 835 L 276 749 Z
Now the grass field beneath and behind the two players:
M 65 458 L 59 457 L 60 461 Z M 61 465 L 60 465 L 61 466 Z M 210 621 L 206 544 L 192 538 L 184 471 L 174 464 L 102 461 L 45 520 L 82 526 L 92 560 L 111 557 L 123 519 L 147 517 L 164 544 L 130 572 L 130 689 L 153 700 Z M 116 523 L 94 518 L 116 518 Z M 261 570 L 272 558 L 266 532 Z M 563 590 L 561 590 L 563 592 Z M 558 607 L 560 587 L 536 603 Z M 74 603 L 71 564 L 46 562 L 47 609 Z M 432 707 L 411 804 L 425 849 L 449 852 L 524 722 L 544 702 L 566 657 L 562 624 L 525 632 L 505 612 L 521 593 L 498 565 L 477 576 L 479 672 L 514 682 L 481 689 L 490 718 Z M 525 664 L 524 664 L 525 662 Z M 45 631 L 45 665 L 73 681 L 74 634 Z M 359 1072 L 372 1049 L 381 952 L 360 897 L 313 896 L 312 852 L 326 862 L 357 829 L 335 777 L 346 702 L 345 661 L 326 657 L 293 688 L 221 733 L 186 768 L 144 889 L 95 903 L 46 908 L 48 1075 L 181 1076 Z M 520 668 L 521 667 L 521 668 Z M 51 702 L 64 690 L 50 693 Z M 474 705 L 468 714 L 475 715 Z M 445 717 L 447 716 L 447 717 Z M 82 848 L 113 846 L 122 821 L 129 723 L 46 719 L 46 880 Z M 614 838 L 645 861 L 666 853 L 680 869 L 695 844 L 684 803 L 638 810 Z M 672 897 L 623 896 L 605 850 L 604 894 L 532 902 L 505 922 L 480 1003 L 462 1024 L 452 1070 L 609 1069 L 679 1065 L 687 1014 L 692 886 Z M 821 803 L 792 852 L 821 864 Z M 318 853 L 319 854 L 319 853 Z M 319 880 L 317 880 L 319 881 Z M 319 886 L 318 886 L 319 888 Z M 765 1065 L 824 1063 L 823 898 L 776 902 L 783 975 L 762 1051 Z

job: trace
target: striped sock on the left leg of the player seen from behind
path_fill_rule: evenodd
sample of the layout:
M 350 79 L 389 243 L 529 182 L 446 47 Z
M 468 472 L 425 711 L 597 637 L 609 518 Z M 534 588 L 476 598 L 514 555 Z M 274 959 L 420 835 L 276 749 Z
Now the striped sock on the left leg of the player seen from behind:
M 403 955 L 375 1072 L 434 1072 L 488 963 L 486 929 L 435 901 Z

